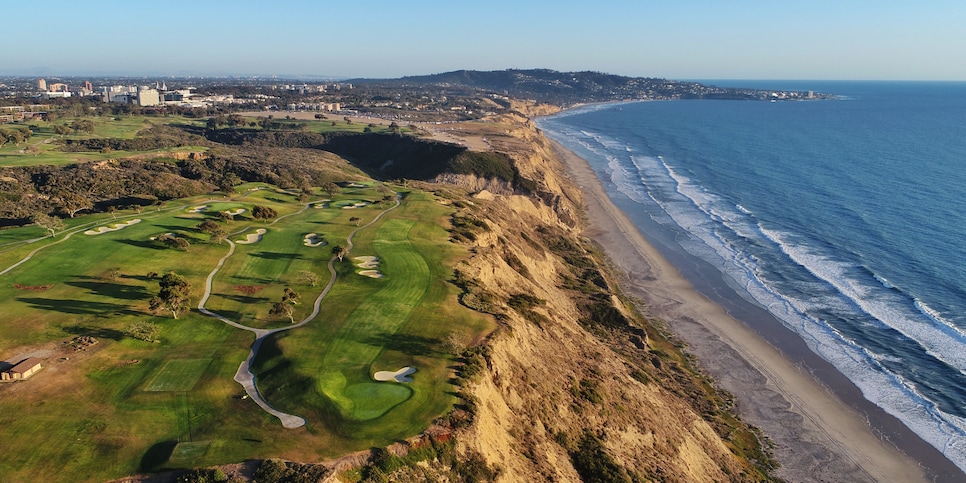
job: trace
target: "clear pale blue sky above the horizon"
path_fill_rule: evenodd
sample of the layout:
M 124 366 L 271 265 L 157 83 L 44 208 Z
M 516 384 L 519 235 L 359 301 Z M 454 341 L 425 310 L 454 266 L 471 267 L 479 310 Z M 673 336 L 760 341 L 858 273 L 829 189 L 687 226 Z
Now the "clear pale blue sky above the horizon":
M 966 80 L 966 0 L 48 0 L 0 18 L 0 75 Z

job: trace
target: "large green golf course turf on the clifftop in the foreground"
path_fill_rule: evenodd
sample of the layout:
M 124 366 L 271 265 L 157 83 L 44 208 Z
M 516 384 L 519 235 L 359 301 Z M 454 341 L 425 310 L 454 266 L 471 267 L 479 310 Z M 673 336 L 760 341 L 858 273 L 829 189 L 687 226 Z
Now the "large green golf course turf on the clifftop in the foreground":
M 243 195 L 230 200 L 198 197 L 169 202 L 160 211 L 122 211 L 116 220 L 110 215 L 65 220 L 78 230 L 92 222 L 134 217 L 142 222 L 95 236 L 77 233 L 55 245 L 65 232 L 24 244 L 43 233 L 35 227 L 0 231 L 0 270 L 47 246 L 0 275 L 0 357 L 44 344 L 57 347 L 77 335 L 100 341 L 93 352 L 69 354 L 70 361 L 48 360 L 48 369 L 18 383 L 16 397 L 9 393 L 14 386 L 0 386 L 3 478 L 104 481 L 250 458 L 321 460 L 415 434 L 450 407 L 452 360 L 440 351 L 439 340 L 454 330 L 475 336 L 490 322 L 455 302 L 456 289 L 447 280 L 465 251 L 447 241 L 440 223 L 449 208 L 428 193 L 410 193 L 399 209 L 360 231 L 352 253 L 338 264 L 339 278 L 322 314 L 263 346 L 256 364 L 259 391 L 273 406 L 305 417 L 304 429 L 284 429 L 241 398 L 244 392 L 232 379 L 248 356 L 251 333 L 195 310 L 177 320 L 148 312 L 148 299 L 158 291 L 149 272 L 184 275 L 194 287 L 194 307 L 205 277 L 227 253 L 228 245 L 209 241 L 195 228 L 198 223 L 219 210 L 266 204 L 292 215 L 275 224 L 242 215 L 226 225 L 232 231 L 269 232 L 259 243 L 239 246 L 225 262 L 208 307 L 256 326 L 286 326 L 287 320 L 268 317 L 283 289 L 302 294 L 298 319 L 309 313 L 328 277 L 331 245 L 306 247 L 304 235 L 320 233 L 331 244 L 344 244 L 356 229 L 350 217 L 367 223 L 385 208 L 293 214 L 301 209 L 294 196 L 274 188 L 246 191 L 254 186 L 242 187 Z M 375 188 L 353 189 L 334 201 L 381 199 Z M 198 205 L 210 208 L 188 213 Z M 190 251 L 150 240 L 167 232 L 189 238 Z M 355 273 L 351 256 L 368 254 L 381 258 L 386 278 Z M 297 283 L 300 270 L 318 273 L 320 284 Z M 15 284 L 51 286 L 29 291 Z M 249 297 L 233 288 L 237 285 L 265 287 Z M 124 330 L 136 321 L 157 324 L 161 342 L 126 337 Z M 376 383 L 370 377 L 406 365 L 417 369 L 412 383 Z M 344 383 L 330 381 L 340 374 Z

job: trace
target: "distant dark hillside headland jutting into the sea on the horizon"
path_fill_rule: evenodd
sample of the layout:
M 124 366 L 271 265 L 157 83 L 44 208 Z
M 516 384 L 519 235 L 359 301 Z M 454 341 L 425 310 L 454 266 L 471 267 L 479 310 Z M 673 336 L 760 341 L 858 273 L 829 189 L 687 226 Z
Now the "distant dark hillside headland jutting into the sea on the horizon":
M 475 71 L 458 70 L 442 74 L 400 79 L 354 79 L 355 84 L 387 86 L 440 86 L 484 91 L 557 105 L 606 102 L 627 99 L 802 99 L 805 92 L 766 91 L 706 86 L 651 77 L 625 77 L 602 72 L 557 72 L 549 69 Z

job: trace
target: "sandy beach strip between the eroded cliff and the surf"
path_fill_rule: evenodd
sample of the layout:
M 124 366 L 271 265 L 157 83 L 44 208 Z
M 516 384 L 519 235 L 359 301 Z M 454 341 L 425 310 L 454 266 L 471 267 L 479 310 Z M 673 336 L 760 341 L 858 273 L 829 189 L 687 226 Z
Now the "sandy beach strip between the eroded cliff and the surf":
M 549 139 L 549 137 L 548 137 Z M 771 314 L 722 291 L 712 267 L 692 281 L 608 197 L 590 164 L 550 140 L 584 194 L 584 235 L 616 266 L 621 288 L 643 301 L 731 392 L 742 418 L 774 443 L 790 481 L 961 481 L 963 473 L 897 418 L 867 401 L 844 375 Z M 691 260 L 687 260 L 690 264 Z M 721 283 L 720 285 L 723 285 Z M 712 293 L 712 301 L 703 293 Z M 739 321 L 740 319 L 740 321 Z

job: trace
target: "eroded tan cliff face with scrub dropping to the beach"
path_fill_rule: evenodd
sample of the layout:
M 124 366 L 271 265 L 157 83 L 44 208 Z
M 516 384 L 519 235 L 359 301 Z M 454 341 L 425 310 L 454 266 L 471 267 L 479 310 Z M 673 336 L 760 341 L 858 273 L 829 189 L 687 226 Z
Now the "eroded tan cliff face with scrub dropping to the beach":
M 615 481 L 761 479 L 735 456 L 748 454 L 735 435 L 754 433 L 728 415 L 727 397 L 615 295 L 549 142 L 526 119 L 502 122 L 512 127 L 497 148 L 533 183 L 477 190 L 461 213 L 487 227 L 457 267 L 467 300 L 500 329 L 484 342 L 482 372 L 464 382 L 475 418 L 460 448 L 507 482 L 580 481 L 595 461 Z

